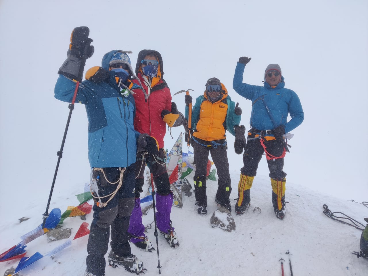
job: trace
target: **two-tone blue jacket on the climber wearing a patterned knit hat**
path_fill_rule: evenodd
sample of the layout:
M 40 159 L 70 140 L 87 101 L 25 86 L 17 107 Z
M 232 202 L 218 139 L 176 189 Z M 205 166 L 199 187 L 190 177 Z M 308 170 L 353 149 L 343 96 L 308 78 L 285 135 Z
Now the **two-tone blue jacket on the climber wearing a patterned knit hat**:
M 102 59 L 102 67 L 109 70 L 111 51 Z M 88 117 L 88 159 L 91 167 L 128 167 L 135 162 L 134 130 L 135 102 L 131 94 L 122 96 L 113 71 L 105 81 L 82 81 L 75 102 L 85 105 Z M 133 89 L 137 88 L 133 86 Z M 55 85 L 55 98 L 71 102 L 75 82 L 60 75 Z

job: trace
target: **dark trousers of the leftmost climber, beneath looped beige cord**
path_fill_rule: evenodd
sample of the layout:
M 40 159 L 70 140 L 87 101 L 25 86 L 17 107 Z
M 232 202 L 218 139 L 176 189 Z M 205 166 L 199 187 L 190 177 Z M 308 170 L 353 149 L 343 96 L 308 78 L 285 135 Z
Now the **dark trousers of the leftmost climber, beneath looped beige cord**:
M 109 247 L 111 231 L 111 250 L 119 256 L 131 254 L 128 240 L 130 234 L 127 232 L 129 219 L 134 207 L 135 169 L 134 164 L 126 168 L 123 174 L 123 184 L 117 194 L 107 203 L 105 207 L 98 207 L 98 199 L 93 205 L 93 220 L 87 244 L 86 266 L 87 272 L 96 276 L 105 275 L 105 255 Z M 102 168 L 102 171 L 93 169 L 92 178 L 98 180 L 98 194 L 100 197 L 114 192 L 120 178 L 119 168 Z M 116 184 L 111 184 L 116 183 Z M 96 196 L 96 194 L 93 194 Z M 106 202 L 110 197 L 102 198 Z M 111 227 L 110 227 L 111 226 Z M 111 230 L 110 230 L 111 228 Z

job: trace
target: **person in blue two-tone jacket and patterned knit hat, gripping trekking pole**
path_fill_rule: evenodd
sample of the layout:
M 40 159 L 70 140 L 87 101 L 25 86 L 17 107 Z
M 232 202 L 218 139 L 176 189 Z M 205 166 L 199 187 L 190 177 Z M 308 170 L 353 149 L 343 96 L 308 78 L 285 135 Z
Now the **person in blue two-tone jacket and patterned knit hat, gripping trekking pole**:
M 82 80 L 86 59 L 93 46 L 87 27 L 74 28 L 67 59 L 59 69 L 55 98 L 72 102 L 76 82 Z M 85 276 L 105 275 L 105 254 L 113 267 L 139 273 L 143 263 L 131 254 L 129 219 L 134 207 L 135 154 L 137 147 L 158 153 L 157 141 L 134 130 L 135 102 L 131 89 L 139 85 L 127 52 L 113 50 L 102 59 L 102 67 L 86 72 L 79 84 L 76 101 L 85 105 L 88 117 L 88 159 L 91 165 L 93 221 L 88 237 Z

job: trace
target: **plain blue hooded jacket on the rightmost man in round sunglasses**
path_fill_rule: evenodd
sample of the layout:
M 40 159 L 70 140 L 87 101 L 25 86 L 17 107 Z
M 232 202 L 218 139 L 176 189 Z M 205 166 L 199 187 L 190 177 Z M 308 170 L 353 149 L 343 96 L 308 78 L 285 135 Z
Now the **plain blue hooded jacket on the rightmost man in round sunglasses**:
M 235 69 L 233 88 L 244 98 L 252 101 L 252 114 L 250 125 L 258 130 L 272 130 L 279 125 L 285 126 L 285 132 L 290 132 L 304 120 L 304 112 L 298 95 L 290 89 L 284 88 L 284 77 L 281 82 L 272 88 L 266 81 L 264 86 L 250 85 L 243 83 L 243 72 L 245 65 L 238 63 Z M 262 101 L 266 105 L 275 120 L 273 124 L 270 115 Z M 287 122 L 287 116 L 290 113 L 291 120 Z

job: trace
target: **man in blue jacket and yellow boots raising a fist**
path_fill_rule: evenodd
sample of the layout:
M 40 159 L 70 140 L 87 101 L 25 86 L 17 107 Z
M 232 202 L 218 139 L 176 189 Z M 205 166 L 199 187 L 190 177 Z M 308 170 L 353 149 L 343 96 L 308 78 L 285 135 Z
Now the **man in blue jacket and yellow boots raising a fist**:
M 304 112 L 298 95 L 285 88 L 284 77 L 278 64 L 270 64 L 265 70 L 264 86 L 243 83 L 245 65 L 251 60 L 240 57 L 237 63 L 233 88 L 241 96 L 252 101 L 251 129 L 247 143 L 244 135 L 236 137 L 235 152 L 243 152 L 244 167 L 238 184 L 237 214 L 243 214 L 250 206 L 250 188 L 257 173 L 258 163 L 265 153 L 272 185 L 272 204 L 276 217 L 283 219 L 285 208 L 286 173 L 283 171 L 287 149 L 285 134 L 304 120 Z M 290 114 L 291 120 L 287 121 Z M 245 134 L 244 125 L 237 133 Z

